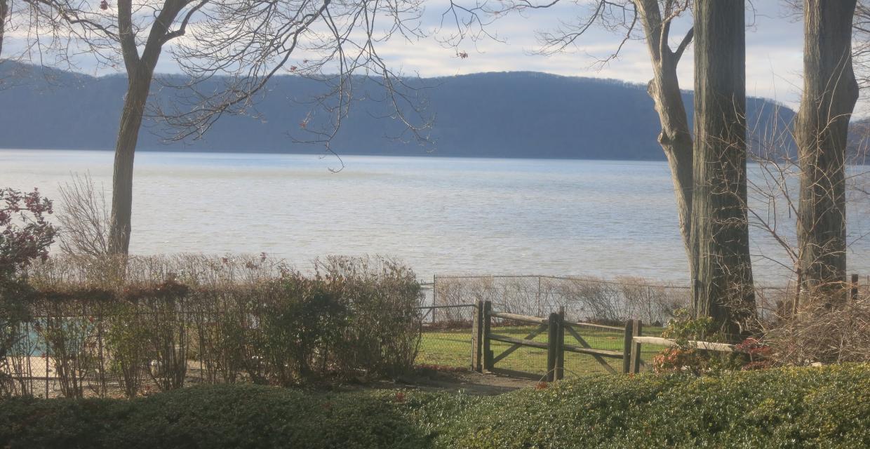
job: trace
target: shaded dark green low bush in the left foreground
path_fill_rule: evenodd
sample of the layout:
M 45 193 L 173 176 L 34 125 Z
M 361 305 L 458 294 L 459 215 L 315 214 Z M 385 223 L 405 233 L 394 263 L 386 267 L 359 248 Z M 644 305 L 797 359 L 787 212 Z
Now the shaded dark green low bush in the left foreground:
M 425 447 L 397 405 L 377 396 L 260 385 L 198 386 L 131 400 L 9 399 L 0 446 Z

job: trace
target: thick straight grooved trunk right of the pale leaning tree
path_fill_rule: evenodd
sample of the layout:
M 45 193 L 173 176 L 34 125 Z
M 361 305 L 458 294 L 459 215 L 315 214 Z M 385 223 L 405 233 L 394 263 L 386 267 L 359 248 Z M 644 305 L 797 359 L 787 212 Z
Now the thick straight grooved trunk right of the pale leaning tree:
M 746 217 L 745 0 L 697 0 L 693 306 L 737 338 L 755 311 Z

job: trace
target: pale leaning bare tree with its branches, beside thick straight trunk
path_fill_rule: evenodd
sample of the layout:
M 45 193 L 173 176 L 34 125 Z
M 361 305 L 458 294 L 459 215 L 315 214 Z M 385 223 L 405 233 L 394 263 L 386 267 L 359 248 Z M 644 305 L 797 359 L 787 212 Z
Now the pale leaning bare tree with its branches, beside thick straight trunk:
M 464 5 L 458 3 L 458 0 L 452 0 L 449 9 L 445 12 L 445 21 L 454 23 L 457 31 L 448 36 L 446 41 L 458 45 L 465 38 L 477 40 L 481 37 L 495 37 L 494 33 L 491 34 L 487 30 L 487 26 L 495 18 L 512 11 L 527 12 L 551 8 L 558 4 L 559 0 L 541 3 L 529 0 L 501 0 L 495 3 L 478 2 Z M 693 269 L 690 246 L 693 141 L 686 117 L 686 106 L 683 104 L 679 89 L 677 65 L 686 48 L 692 43 L 693 30 L 689 29 L 676 47 L 672 47 L 670 42 L 673 22 L 690 8 L 691 1 L 597 0 L 583 6 L 588 12 L 578 17 L 576 21 L 561 23 L 557 30 L 539 33 L 541 52 L 552 54 L 566 50 L 583 37 L 592 26 L 612 30 L 620 37 L 616 50 L 599 61 L 601 64 L 617 57 L 629 40 L 643 38 L 646 41 L 650 62 L 653 65 L 653 79 L 650 80 L 647 91 L 653 98 L 655 110 L 659 114 L 661 124 L 659 144 L 665 151 L 671 169 L 679 228 L 691 271 Z M 639 32 L 642 34 L 639 35 Z M 690 272 L 690 278 L 693 277 L 693 272 Z

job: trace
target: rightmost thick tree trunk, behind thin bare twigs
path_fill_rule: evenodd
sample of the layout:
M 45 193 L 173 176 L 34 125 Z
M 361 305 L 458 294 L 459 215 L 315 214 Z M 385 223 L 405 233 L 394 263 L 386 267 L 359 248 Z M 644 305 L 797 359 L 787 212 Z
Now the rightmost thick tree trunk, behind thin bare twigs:
M 794 135 L 801 171 L 798 259 L 807 292 L 840 289 L 846 281 L 846 144 L 858 99 L 854 10 L 855 0 L 804 2 L 804 91 Z

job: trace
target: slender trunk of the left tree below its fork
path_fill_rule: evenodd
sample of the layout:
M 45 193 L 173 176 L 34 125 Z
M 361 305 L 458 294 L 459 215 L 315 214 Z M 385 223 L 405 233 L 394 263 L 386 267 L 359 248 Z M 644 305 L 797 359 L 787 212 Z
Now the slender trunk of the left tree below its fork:
M 148 92 L 151 89 L 151 70 L 131 70 L 130 73 L 127 97 L 124 98 L 124 111 L 121 112 L 121 126 L 115 144 L 109 227 L 110 254 L 127 254 L 130 250 L 133 157 L 145 103 L 148 101 Z

